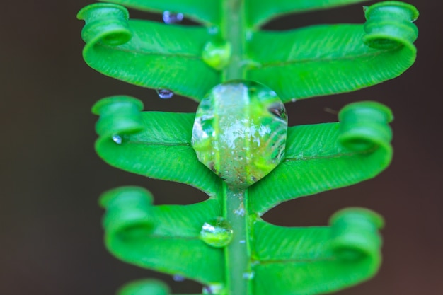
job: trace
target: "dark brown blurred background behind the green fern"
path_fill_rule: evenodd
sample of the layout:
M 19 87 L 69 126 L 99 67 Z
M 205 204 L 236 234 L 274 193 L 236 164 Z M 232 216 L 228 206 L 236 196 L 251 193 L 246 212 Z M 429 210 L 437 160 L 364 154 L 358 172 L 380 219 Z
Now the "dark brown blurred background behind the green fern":
M 125 173 L 93 150 L 96 100 L 140 98 L 146 110 L 194 112 L 193 101 L 161 100 L 155 91 L 110 79 L 81 57 L 90 0 L 7 1 L 0 18 L 0 294 L 109 295 L 125 282 L 159 277 L 174 293 L 200 291 L 193 282 L 142 270 L 103 246 L 100 192 L 119 185 L 149 188 L 156 204 L 190 204 L 201 192 Z M 333 122 L 355 100 L 378 100 L 394 114 L 391 166 L 379 177 L 284 203 L 265 219 L 287 226 L 323 225 L 348 206 L 386 218 L 384 265 L 369 282 L 338 294 L 443 294 L 442 17 L 443 2 L 410 0 L 420 10 L 418 59 L 398 79 L 362 91 L 287 105 L 290 125 Z M 362 23 L 362 4 L 274 21 L 267 28 L 313 23 Z M 160 16 L 130 11 L 133 18 Z M 204 77 L 202 77 L 204 79 Z M 277 243 L 277 241 L 276 241 Z

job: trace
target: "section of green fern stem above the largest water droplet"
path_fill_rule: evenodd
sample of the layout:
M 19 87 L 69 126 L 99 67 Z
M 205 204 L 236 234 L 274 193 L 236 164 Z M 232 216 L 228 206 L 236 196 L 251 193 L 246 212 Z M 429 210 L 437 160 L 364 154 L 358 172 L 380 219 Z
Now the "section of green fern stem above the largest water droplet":
M 223 81 L 244 78 L 246 43 L 245 5 L 243 0 L 222 1 L 222 36 L 231 44 L 231 60 L 223 71 Z

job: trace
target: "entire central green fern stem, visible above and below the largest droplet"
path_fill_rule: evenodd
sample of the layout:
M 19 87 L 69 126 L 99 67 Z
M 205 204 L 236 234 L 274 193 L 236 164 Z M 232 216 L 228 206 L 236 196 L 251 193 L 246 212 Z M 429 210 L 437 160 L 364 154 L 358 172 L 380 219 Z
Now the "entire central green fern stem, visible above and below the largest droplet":
M 222 36 L 231 45 L 231 59 L 223 71 L 223 81 L 244 79 L 246 23 L 243 0 L 222 1 Z M 247 190 L 224 185 L 224 218 L 234 230 L 225 248 L 226 289 L 229 295 L 251 295 L 253 274 L 248 234 Z

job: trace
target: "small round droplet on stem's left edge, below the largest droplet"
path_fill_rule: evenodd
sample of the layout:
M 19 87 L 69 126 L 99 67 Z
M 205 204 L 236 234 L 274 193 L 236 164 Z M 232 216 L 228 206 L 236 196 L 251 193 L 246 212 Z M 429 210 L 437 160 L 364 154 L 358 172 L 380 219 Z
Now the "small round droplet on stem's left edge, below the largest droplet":
M 228 221 L 223 217 L 217 217 L 203 224 L 200 238 L 212 247 L 221 248 L 231 243 L 233 232 Z

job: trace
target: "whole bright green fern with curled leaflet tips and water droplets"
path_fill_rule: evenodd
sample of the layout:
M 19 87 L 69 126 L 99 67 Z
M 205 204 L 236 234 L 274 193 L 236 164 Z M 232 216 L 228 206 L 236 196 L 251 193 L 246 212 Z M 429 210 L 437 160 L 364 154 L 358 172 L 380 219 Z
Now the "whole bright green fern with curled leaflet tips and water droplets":
M 338 123 L 288 128 L 283 103 L 401 74 L 415 59 L 418 11 L 386 1 L 365 7 L 364 25 L 270 32 L 260 27 L 284 13 L 362 0 L 110 2 L 79 12 L 86 62 L 200 106 L 197 115 L 142 112 L 135 98 L 104 98 L 93 106 L 98 154 L 132 173 L 197 187 L 209 199 L 154 206 L 141 187 L 105 192 L 108 249 L 135 265 L 195 279 L 205 294 L 320 294 L 372 277 L 381 262 L 378 214 L 344 209 L 330 226 L 308 228 L 275 226 L 260 216 L 389 165 L 393 116 L 386 106 L 352 103 Z M 129 20 L 118 4 L 180 12 L 202 26 Z M 121 290 L 166 293 L 151 281 Z

